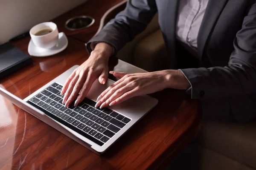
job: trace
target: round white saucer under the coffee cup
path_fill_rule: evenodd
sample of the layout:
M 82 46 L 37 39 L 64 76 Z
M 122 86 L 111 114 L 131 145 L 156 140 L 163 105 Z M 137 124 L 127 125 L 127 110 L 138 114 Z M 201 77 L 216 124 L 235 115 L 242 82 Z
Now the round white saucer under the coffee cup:
M 65 48 L 67 48 L 68 40 L 64 32 L 60 32 L 58 34 L 58 44 L 50 49 L 40 48 L 38 46 L 35 46 L 34 42 L 32 40 L 29 41 L 29 55 L 34 57 L 47 57 L 52 56 L 54 54 L 57 54 L 61 51 L 63 51 Z

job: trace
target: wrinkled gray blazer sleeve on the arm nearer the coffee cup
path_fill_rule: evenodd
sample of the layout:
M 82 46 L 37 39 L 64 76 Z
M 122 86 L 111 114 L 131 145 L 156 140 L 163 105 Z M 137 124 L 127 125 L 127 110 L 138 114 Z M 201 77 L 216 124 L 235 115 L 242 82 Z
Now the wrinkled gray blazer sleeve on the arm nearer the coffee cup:
M 155 0 L 128 0 L 126 8 L 108 22 L 86 45 L 90 53 L 91 43 L 105 42 L 119 51 L 127 42 L 142 32 L 157 12 Z

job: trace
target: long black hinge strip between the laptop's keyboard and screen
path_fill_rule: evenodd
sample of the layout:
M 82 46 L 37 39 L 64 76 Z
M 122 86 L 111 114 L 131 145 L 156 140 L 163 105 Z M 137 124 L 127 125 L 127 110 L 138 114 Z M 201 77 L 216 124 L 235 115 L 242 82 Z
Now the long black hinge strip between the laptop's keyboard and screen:
M 27 102 L 30 105 L 34 106 L 35 108 L 38 108 L 39 110 L 43 111 L 47 116 L 51 117 L 52 119 L 55 119 L 62 125 L 69 127 L 70 129 L 74 130 L 75 132 L 79 133 L 80 135 L 84 136 L 85 138 L 89 139 L 90 141 L 92 141 L 96 144 L 99 144 L 100 146 L 102 146 L 104 144 L 103 142 L 100 142 L 98 139 L 94 138 L 93 136 L 90 136 L 89 134 L 85 133 L 84 131 L 82 131 L 82 130 L 78 129 L 77 127 L 69 124 L 68 122 L 62 120 L 58 116 L 55 116 L 54 114 L 50 113 L 49 111 L 44 110 L 43 108 L 39 107 L 38 105 L 35 105 L 34 103 L 32 103 L 30 101 L 27 101 Z

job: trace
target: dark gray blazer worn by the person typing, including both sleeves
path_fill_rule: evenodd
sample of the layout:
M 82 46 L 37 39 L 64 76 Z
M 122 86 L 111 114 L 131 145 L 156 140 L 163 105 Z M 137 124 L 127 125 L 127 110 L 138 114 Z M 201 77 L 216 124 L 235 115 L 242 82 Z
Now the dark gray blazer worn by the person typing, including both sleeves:
M 175 55 L 178 0 L 129 0 L 124 11 L 87 43 L 120 50 L 142 32 L 158 11 L 166 47 Z M 209 0 L 198 34 L 200 68 L 182 69 L 210 119 L 248 121 L 256 117 L 256 0 Z M 175 62 L 173 57 L 166 61 Z

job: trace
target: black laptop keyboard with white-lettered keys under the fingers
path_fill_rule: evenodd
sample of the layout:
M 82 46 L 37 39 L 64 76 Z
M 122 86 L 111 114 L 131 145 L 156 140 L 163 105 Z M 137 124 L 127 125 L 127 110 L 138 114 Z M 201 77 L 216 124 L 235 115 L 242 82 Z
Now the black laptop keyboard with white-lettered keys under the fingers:
M 32 97 L 28 103 L 100 146 L 131 121 L 108 108 L 95 108 L 96 102 L 87 98 L 77 107 L 71 104 L 65 108 L 61 88 L 62 85 L 55 82 Z

